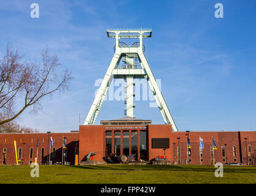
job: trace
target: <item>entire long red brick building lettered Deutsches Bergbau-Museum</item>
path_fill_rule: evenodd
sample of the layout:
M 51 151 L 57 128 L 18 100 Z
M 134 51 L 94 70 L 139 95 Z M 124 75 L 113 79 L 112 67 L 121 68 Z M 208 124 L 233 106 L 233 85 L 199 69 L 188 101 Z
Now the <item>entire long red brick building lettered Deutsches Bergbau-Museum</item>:
M 256 165 L 255 131 L 172 132 L 171 125 L 151 124 L 141 119 L 121 118 L 101 121 L 98 126 L 80 126 L 79 132 L 40 134 L 0 134 L 0 164 L 16 164 L 14 140 L 17 142 L 18 160 L 24 164 L 42 164 L 50 160 L 61 164 L 63 160 L 63 138 L 66 138 L 64 161 L 74 164 L 75 154 L 79 162 L 85 161 L 90 152 L 97 152 L 93 160 L 103 162 L 111 153 L 117 155 L 136 154 L 138 160 L 154 160 L 166 156 L 176 164 L 211 165 L 213 161 Z M 50 148 L 50 135 L 53 148 Z M 187 148 L 187 137 L 190 147 Z M 203 138 L 204 148 L 200 150 Z M 37 152 L 37 138 L 39 148 Z M 214 138 L 217 149 L 212 149 Z M 246 139 L 245 139 L 246 138 Z

